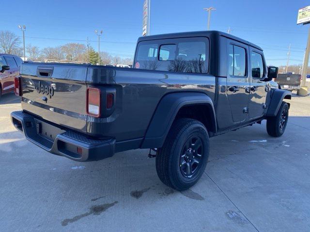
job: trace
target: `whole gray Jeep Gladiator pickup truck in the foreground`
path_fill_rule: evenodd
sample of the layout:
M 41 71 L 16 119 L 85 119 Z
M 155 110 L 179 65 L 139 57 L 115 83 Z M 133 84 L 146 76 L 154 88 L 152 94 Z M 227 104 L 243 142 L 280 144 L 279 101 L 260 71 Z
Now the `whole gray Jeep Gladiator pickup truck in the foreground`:
M 291 92 L 272 78 L 263 50 L 219 31 L 141 37 L 134 68 L 23 63 L 15 79 L 22 111 L 12 123 L 44 150 L 77 161 L 156 148 L 160 180 L 193 186 L 209 138 L 267 120 L 283 134 Z

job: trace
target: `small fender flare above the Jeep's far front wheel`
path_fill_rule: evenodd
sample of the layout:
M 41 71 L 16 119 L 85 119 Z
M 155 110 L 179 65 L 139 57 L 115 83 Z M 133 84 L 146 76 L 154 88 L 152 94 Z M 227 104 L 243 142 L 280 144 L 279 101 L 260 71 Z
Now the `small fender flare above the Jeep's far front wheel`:
M 283 99 L 292 99 L 292 93 L 288 90 L 275 89 L 272 93 L 266 116 L 273 117 L 279 112 Z

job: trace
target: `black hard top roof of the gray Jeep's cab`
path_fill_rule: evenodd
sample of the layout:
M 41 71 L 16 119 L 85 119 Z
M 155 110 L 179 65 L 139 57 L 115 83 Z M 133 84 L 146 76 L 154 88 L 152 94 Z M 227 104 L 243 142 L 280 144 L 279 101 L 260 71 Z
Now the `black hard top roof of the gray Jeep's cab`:
M 138 43 L 140 41 L 146 41 L 146 40 L 161 40 L 161 39 L 195 37 L 195 36 L 211 37 L 213 35 L 224 36 L 226 38 L 229 38 L 229 39 L 241 42 L 241 43 L 248 44 L 252 47 L 255 47 L 255 48 L 263 51 L 263 49 L 260 46 L 254 44 L 254 43 L 250 43 L 250 42 L 243 40 L 239 37 L 236 37 L 236 36 L 233 36 L 231 34 L 228 34 L 228 33 L 222 32 L 222 31 L 218 31 L 218 30 L 202 30 L 202 31 L 178 32 L 178 33 L 169 33 L 169 34 L 160 34 L 160 35 L 149 35 L 149 36 L 139 37 Z

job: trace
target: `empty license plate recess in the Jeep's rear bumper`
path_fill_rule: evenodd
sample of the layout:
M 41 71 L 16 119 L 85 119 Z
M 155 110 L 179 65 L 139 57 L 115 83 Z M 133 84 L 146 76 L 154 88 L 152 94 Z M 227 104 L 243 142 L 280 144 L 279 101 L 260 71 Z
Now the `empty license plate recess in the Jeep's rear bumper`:
M 34 119 L 34 122 L 37 134 L 52 142 L 55 140 L 58 134 L 65 132 L 58 127 L 55 127 L 38 119 Z

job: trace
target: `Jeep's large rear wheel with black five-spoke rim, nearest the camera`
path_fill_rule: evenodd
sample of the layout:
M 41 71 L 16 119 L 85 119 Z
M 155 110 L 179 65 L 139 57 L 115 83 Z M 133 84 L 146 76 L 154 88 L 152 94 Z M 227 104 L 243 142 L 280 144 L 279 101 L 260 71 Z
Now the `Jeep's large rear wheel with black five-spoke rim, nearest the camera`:
M 202 176 L 209 157 L 209 136 L 204 125 L 190 118 L 177 119 L 156 155 L 159 179 L 176 190 L 186 190 Z

